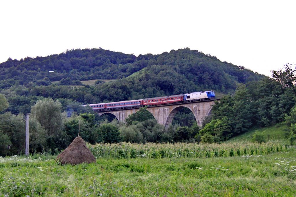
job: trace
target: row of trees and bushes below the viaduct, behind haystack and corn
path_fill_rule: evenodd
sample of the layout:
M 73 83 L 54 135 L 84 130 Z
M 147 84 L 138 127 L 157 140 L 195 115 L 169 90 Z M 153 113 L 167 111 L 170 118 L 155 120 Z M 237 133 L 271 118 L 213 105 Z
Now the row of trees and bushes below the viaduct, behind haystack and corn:
M 5 110 L 9 106 L 4 95 L 0 102 Z M 65 149 L 78 136 L 89 143 L 117 142 L 178 142 L 193 139 L 198 131 L 197 124 L 191 127 L 170 125 L 165 128 L 153 119 L 145 108 L 126 119 L 126 124 L 114 119 L 108 122 L 98 118 L 90 107 L 83 107 L 88 112 L 73 112 L 67 116 L 62 111 L 62 104 L 53 99 L 36 102 L 30 110 L 29 152 L 57 154 Z M 22 154 L 25 150 L 25 115 L 14 115 L 11 112 L 0 114 L 0 155 Z

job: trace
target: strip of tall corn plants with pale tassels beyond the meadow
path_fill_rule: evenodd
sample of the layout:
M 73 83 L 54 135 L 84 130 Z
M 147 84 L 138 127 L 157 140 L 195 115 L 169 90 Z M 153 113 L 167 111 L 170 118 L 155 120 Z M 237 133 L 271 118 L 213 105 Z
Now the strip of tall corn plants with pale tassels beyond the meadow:
M 265 155 L 287 150 L 280 143 L 227 143 L 227 144 L 197 144 L 197 143 L 98 143 L 88 148 L 99 158 L 207 158 Z

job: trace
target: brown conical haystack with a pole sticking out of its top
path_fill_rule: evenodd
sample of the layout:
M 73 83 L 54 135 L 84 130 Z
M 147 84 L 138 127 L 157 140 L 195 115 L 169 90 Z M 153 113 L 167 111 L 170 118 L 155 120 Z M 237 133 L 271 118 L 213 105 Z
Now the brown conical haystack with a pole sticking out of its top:
M 56 162 L 60 164 L 81 164 L 96 162 L 94 155 L 91 153 L 89 148 L 86 147 L 84 140 L 78 136 L 73 142 L 61 152 L 56 159 Z

